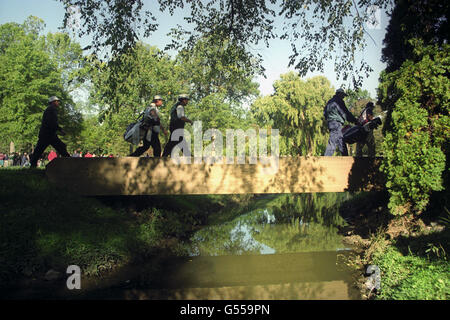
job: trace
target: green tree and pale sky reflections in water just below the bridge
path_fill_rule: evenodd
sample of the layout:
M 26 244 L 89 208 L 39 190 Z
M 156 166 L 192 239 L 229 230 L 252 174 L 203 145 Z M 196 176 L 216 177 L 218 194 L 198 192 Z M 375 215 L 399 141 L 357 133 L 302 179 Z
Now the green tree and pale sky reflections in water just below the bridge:
M 222 225 L 192 237 L 191 254 L 218 256 L 272 254 L 342 249 L 338 227 L 345 221 L 339 204 L 347 194 L 279 195 Z

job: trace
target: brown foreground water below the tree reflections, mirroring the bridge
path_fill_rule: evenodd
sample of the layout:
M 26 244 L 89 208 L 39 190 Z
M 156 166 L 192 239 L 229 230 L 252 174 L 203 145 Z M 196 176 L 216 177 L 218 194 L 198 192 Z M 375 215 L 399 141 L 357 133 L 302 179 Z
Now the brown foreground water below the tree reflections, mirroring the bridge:
M 170 259 L 164 272 L 141 274 L 125 288 L 91 291 L 89 298 L 304 300 L 357 299 L 348 271 L 338 267 L 340 253 L 314 252 L 263 256 Z M 130 275 L 128 271 L 128 275 Z M 136 270 L 135 270 L 136 271 Z M 115 277 L 117 280 L 117 276 Z M 122 277 L 126 279 L 126 277 Z M 103 283 L 104 285 L 104 283 Z

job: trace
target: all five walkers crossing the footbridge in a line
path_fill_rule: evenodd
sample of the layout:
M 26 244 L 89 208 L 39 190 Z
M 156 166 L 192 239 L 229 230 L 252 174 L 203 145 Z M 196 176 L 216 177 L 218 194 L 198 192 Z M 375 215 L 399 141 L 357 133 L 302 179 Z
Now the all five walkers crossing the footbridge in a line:
M 357 125 L 363 125 L 363 122 L 371 121 L 373 119 L 374 104 L 369 102 L 364 108 L 359 118 L 356 118 L 347 109 L 344 98 L 347 96 L 343 89 L 336 90 L 335 95 L 328 101 L 324 108 L 324 116 L 327 121 L 328 129 L 330 131 L 330 137 L 328 145 L 325 150 L 325 156 L 332 156 L 336 148 L 340 151 L 341 155 L 347 156 L 348 150 L 343 139 L 342 127 L 345 122 L 352 122 Z M 64 130 L 58 125 L 57 110 L 60 106 L 60 99 L 56 96 L 52 96 L 48 99 L 48 107 L 44 111 L 42 117 L 42 124 L 39 130 L 39 139 L 34 148 L 29 162 L 32 168 L 37 166 L 37 162 L 41 157 L 44 150 L 49 146 L 53 146 L 56 151 L 62 157 L 70 157 L 67 152 L 67 147 L 64 142 L 58 137 L 59 135 L 65 135 Z M 171 155 L 173 148 L 183 141 L 182 130 L 177 132 L 177 137 L 172 139 L 173 133 L 177 129 L 184 129 L 186 123 L 192 124 L 192 121 L 186 117 L 185 106 L 189 103 L 189 96 L 181 94 L 178 96 L 177 102 L 170 109 L 170 123 L 169 123 L 169 141 L 164 147 L 162 152 L 163 157 Z M 159 133 L 162 130 L 167 136 L 167 130 L 161 123 L 159 108 L 163 106 L 163 99 L 161 96 L 156 95 L 153 98 L 152 103 L 144 110 L 143 118 L 140 122 L 140 129 L 144 131 L 143 145 L 138 147 L 129 156 L 139 157 L 150 147 L 153 148 L 153 156 L 161 157 L 161 142 L 159 140 Z M 181 133 L 181 134 L 180 134 Z M 362 148 L 364 144 L 368 145 L 369 156 L 375 156 L 375 142 L 373 138 L 373 132 L 370 132 L 365 141 L 359 142 L 356 148 L 356 156 L 362 156 Z M 77 154 L 74 154 L 77 157 Z M 81 156 L 81 155 L 80 155 Z M 86 155 L 85 155 L 86 157 Z

